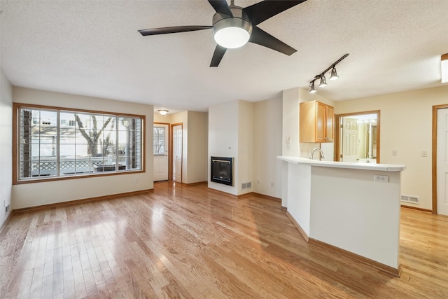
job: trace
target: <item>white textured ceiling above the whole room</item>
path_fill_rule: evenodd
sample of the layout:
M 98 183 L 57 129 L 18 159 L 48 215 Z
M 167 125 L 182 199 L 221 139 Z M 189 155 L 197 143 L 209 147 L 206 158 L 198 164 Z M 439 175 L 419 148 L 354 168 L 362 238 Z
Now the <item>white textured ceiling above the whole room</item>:
M 230 2 L 230 1 L 228 1 Z M 236 0 L 246 7 L 256 0 Z M 248 43 L 209 67 L 211 30 L 141 36 L 137 29 L 211 25 L 214 9 L 197 1 L 3 1 L 1 68 L 13 85 L 207 111 L 218 103 L 257 102 L 308 88 L 335 101 L 440 86 L 448 53 L 448 0 L 308 0 L 259 27 L 297 52 Z M 317 82 L 317 81 L 316 81 Z

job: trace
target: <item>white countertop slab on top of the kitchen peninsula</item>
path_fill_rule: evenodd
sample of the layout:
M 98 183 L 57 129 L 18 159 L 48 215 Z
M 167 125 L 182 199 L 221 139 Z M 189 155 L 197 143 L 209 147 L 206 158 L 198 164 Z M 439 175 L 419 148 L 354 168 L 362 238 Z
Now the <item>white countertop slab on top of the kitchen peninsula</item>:
M 364 162 L 339 162 L 339 161 L 319 161 L 300 157 L 278 156 L 277 159 L 293 164 L 311 165 L 317 167 L 336 167 L 349 169 L 378 170 L 382 172 L 401 172 L 406 169 L 406 165 L 395 164 L 375 164 Z

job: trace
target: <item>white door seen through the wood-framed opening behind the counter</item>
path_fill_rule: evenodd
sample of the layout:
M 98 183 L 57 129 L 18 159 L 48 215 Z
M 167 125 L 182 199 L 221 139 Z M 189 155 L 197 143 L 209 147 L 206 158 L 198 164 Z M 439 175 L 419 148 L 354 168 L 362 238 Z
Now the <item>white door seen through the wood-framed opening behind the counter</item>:
M 356 162 L 358 159 L 358 120 L 342 118 L 341 161 Z

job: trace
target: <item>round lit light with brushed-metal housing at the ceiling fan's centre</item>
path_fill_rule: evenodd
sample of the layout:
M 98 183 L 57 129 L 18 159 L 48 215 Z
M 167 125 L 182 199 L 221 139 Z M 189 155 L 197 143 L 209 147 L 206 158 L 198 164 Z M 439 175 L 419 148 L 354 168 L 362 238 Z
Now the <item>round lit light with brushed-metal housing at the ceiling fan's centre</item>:
M 251 23 L 240 18 L 221 19 L 213 26 L 216 43 L 228 49 L 244 46 L 251 38 L 251 33 Z

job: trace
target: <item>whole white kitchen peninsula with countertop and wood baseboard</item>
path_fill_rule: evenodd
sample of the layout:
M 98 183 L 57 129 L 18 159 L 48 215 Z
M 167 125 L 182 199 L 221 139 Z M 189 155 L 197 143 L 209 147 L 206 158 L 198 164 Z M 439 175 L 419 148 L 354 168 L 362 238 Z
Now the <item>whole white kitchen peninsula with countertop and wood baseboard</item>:
M 307 241 L 400 275 L 400 179 L 405 165 L 282 161 L 281 205 Z

